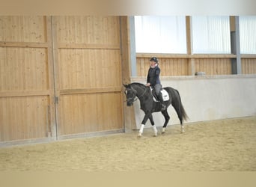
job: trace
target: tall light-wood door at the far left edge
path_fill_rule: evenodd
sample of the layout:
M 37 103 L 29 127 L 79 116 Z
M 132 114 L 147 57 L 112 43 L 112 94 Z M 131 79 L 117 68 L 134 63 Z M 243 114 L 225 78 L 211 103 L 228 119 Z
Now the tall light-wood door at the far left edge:
M 0 141 L 55 137 L 51 18 L 0 16 Z

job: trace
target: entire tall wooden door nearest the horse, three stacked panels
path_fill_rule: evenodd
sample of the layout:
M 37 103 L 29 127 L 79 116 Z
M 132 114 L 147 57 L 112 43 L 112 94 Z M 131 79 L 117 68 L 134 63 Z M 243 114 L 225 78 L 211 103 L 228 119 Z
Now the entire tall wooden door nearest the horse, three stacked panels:
M 123 130 L 118 16 L 55 16 L 58 138 Z

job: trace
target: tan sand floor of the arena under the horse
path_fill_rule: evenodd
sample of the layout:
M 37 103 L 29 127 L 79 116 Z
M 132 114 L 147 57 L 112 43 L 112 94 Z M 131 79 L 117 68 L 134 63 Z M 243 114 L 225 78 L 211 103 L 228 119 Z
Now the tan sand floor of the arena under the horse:
M 2 147 L 0 171 L 256 171 L 256 116 L 188 123 L 185 130 Z

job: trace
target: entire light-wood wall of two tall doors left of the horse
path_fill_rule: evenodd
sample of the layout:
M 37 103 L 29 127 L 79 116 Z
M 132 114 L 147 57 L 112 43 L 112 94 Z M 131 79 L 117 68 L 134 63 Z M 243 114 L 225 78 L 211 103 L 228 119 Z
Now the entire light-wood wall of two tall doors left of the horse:
M 121 45 L 119 16 L 0 16 L 0 145 L 123 131 Z

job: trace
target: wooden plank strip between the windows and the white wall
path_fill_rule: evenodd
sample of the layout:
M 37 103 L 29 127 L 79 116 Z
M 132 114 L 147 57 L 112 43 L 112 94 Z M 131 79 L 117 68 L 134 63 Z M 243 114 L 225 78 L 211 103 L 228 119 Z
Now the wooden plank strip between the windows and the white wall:
M 149 59 L 159 58 L 161 76 L 194 76 L 196 72 L 206 75 L 231 75 L 231 59 L 235 55 L 163 55 L 137 54 L 137 76 L 147 76 Z M 243 55 L 243 74 L 256 73 L 256 57 Z

